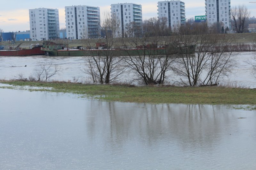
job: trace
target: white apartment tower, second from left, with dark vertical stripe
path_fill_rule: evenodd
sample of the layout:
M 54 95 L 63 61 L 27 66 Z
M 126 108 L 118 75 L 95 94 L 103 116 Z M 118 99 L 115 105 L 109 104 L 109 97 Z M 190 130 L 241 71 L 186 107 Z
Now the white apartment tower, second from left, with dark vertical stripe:
M 68 39 L 98 38 L 100 36 L 100 8 L 94 6 L 66 6 Z

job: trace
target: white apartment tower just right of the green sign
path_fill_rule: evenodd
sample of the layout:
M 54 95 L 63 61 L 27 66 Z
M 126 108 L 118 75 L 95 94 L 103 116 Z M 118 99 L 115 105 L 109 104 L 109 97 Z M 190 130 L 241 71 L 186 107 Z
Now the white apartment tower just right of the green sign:
M 219 22 L 231 30 L 230 0 L 205 0 L 205 15 L 210 26 Z

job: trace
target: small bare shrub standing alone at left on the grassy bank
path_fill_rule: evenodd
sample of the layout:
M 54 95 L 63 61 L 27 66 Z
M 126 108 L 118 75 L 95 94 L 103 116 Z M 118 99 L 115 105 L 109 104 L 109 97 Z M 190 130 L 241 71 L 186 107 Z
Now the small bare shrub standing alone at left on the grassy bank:
M 47 81 L 49 78 L 60 72 L 58 64 L 41 63 L 36 70 L 37 81 Z

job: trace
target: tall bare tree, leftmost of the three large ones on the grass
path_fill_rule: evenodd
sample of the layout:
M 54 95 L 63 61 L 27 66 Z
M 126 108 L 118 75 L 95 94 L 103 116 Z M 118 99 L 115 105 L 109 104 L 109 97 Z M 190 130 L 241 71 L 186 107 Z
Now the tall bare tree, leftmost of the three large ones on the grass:
M 85 44 L 90 50 L 90 55 L 85 56 L 84 72 L 89 74 L 93 82 L 111 83 L 117 81 L 124 69 L 120 64 L 120 57 L 116 54 L 118 48 L 117 38 L 120 36 L 119 20 L 109 13 L 105 13 L 102 20 L 101 29 L 105 34 L 103 40 L 89 40 L 85 39 Z M 97 45 L 97 50 L 91 48 Z

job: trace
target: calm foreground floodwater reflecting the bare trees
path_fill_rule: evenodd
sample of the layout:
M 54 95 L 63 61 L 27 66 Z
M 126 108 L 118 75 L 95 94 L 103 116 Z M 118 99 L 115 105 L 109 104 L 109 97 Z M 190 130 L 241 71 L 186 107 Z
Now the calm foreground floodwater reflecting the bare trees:
M 0 94 L 0 169 L 256 168 L 256 111 Z

